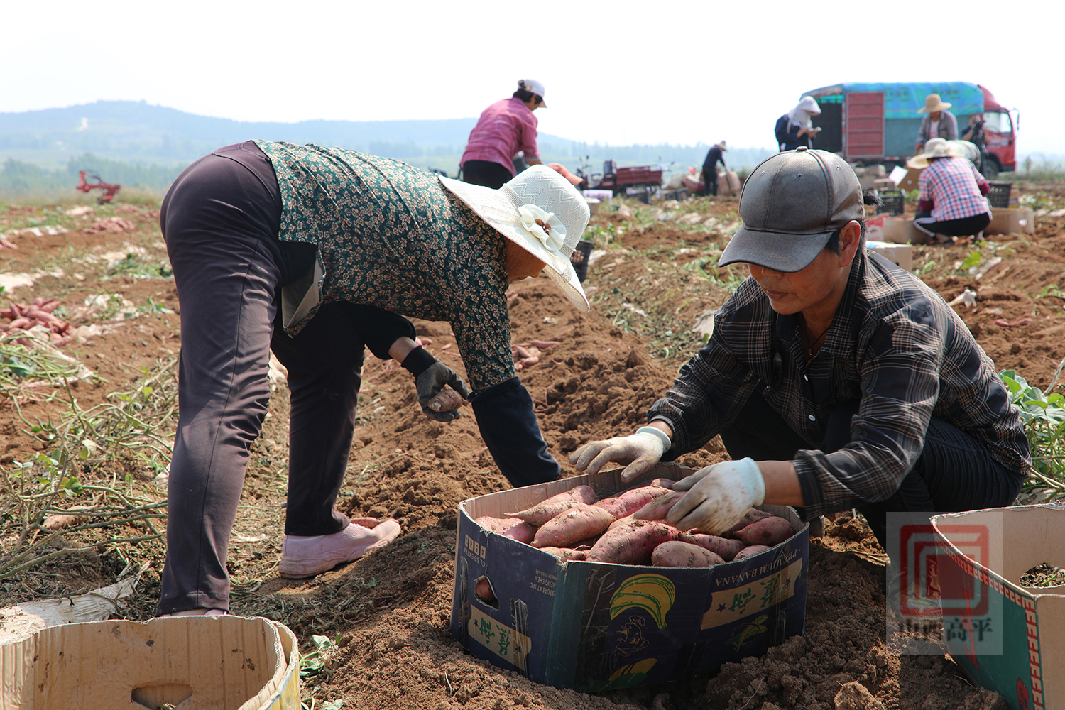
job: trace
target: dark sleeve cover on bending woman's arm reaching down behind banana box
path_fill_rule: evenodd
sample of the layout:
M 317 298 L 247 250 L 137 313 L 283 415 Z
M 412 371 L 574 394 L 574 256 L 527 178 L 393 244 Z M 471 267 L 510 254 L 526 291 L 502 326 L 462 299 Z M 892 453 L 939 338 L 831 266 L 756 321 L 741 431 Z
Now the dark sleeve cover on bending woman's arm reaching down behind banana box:
M 517 377 L 471 397 L 477 428 L 495 464 L 515 489 L 553 481 L 561 474 L 547 452 L 532 398 Z

